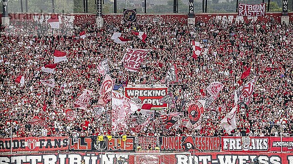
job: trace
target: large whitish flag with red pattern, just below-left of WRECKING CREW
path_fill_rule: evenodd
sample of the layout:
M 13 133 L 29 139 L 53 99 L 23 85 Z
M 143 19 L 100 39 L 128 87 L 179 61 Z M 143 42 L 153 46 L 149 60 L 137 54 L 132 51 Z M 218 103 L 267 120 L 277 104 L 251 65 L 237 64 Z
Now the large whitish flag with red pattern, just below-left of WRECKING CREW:
M 138 110 L 135 102 L 112 90 L 112 131 L 127 129 L 127 119 Z

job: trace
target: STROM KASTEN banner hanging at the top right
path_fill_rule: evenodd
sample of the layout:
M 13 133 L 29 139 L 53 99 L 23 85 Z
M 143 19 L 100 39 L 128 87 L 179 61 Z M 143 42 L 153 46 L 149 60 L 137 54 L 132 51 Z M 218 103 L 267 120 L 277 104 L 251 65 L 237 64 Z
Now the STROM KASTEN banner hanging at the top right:
M 248 17 L 265 16 L 266 14 L 266 3 L 260 4 L 245 4 L 239 3 L 238 15 Z

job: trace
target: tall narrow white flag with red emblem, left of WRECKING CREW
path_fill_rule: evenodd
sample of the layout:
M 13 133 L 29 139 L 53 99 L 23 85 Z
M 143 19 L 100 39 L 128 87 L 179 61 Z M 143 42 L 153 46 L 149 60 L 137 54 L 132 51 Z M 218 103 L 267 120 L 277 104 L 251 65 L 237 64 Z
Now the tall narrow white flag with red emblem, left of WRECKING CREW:
M 99 91 L 100 98 L 98 100 L 98 103 L 100 105 L 105 106 L 106 103 L 111 101 L 111 91 L 114 87 L 114 84 L 115 80 L 111 79 L 111 77 L 106 74 Z

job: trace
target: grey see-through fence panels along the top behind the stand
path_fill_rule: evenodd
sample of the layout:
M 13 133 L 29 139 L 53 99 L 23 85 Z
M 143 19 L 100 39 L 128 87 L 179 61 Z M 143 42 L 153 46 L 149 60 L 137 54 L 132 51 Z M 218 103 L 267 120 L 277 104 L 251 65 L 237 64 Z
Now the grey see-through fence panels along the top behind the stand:
M 9 0 L 9 13 L 97 13 L 98 0 Z M 188 13 L 188 0 L 102 0 L 103 14 L 123 13 L 124 8 L 136 8 L 142 14 Z M 265 2 L 269 11 L 281 12 L 282 0 L 193 0 L 195 13 L 231 13 L 236 11 L 237 2 L 257 4 Z M 115 7 L 117 6 L 117 7 Z M 288 9 L 292 11 L 292 0 Z M 2 10 L 2 7 L 0 7 Z

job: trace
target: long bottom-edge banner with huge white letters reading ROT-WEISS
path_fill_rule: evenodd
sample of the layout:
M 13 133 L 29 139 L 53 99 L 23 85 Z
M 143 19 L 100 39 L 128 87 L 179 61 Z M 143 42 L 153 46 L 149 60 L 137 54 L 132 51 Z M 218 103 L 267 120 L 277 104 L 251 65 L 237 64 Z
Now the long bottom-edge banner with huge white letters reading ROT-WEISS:
M 293 164 L 293 153 L 103 154 L 53 153 L 0 155 L 1 164 Z

